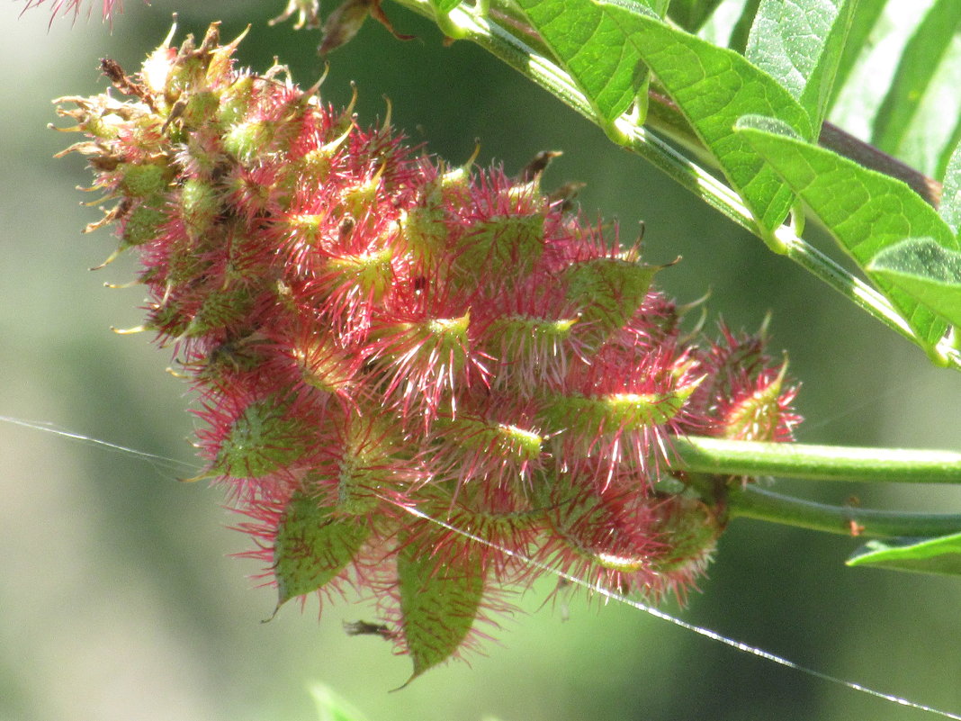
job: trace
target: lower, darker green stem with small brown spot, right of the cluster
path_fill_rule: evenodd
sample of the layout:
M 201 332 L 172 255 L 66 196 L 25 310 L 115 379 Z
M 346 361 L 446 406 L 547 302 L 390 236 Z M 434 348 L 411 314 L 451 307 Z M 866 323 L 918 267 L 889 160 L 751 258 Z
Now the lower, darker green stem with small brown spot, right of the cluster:
M 961 514 L 828 506 L 783 496 L 756 485 L 731 492 L 728 512 L 732 518 L 755 518 L 828 534 L 924 537 L 961 532 Z

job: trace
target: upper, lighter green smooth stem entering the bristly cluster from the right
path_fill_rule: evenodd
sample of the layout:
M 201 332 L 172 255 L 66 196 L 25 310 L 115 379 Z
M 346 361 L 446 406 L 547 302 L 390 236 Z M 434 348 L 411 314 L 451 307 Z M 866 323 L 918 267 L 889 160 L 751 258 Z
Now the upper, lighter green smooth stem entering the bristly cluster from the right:
M 961 453 L 762 443 L 695 435 L 672 438 L 678 469 L 715 476 L 812 481 L 961 484 Z

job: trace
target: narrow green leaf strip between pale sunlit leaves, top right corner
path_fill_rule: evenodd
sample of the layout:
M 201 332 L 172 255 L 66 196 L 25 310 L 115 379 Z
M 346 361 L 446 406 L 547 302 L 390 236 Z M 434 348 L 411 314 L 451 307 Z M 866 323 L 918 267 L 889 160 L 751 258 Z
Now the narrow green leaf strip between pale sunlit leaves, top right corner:
M 892 155 L 899 153 L 924 93 L 961 25 L 961 3 L 937 0 L 924 15 L 901 54 L 894 81 L 875 116 L 871 142 Z

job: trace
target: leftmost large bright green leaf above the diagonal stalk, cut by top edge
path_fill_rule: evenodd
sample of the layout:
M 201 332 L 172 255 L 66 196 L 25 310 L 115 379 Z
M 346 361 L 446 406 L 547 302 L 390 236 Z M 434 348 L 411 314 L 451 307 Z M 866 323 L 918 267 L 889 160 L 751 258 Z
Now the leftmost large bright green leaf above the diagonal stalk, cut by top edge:
M 666 7 L 665 0 L 646 4 L 653 12 Z M 517 5 L 605 124 L 628 110 L 647 69 L 616 22 L 591 0 L 517 0 Z

